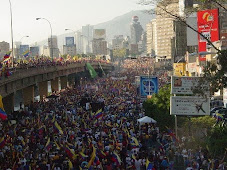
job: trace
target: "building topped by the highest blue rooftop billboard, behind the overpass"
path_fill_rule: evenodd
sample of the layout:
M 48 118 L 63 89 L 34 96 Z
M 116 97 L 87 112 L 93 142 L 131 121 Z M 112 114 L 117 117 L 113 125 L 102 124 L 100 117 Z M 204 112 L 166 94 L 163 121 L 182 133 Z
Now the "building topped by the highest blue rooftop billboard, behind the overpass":
M 66 45 L 63 45 L 63 54 L 70 56 L 76 55 L 76 44 L 74 43 L 74 37 L 65 37 Z

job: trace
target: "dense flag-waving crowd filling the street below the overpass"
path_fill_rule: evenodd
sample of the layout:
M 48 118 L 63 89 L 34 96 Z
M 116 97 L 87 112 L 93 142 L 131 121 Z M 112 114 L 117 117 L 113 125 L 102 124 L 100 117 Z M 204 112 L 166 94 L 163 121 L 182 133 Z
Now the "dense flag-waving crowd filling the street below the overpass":
M 137 64 L 126 60 L 117 74 L 63 89 L 8 115 L 0 124 L 0 169 L 224 170 L 223 160 L 185 149 L 171 130 L 159 130 L 159 122 L 137 121 L 145 115 L 134 84 L 145 67 Z

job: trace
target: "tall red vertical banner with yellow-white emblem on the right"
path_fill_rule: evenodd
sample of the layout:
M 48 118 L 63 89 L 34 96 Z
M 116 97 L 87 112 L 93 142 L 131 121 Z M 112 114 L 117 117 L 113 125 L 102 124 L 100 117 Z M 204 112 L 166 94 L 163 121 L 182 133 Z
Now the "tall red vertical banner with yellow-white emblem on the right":
M 198 32 L 202 33 L 211 42 L 219 40 L 218 9 L 198 11 Z M 207 41 L 198 34 L 198 52 L 207 51 Z M 199 56 L 200 61 L 206 61 L 206 56 Z

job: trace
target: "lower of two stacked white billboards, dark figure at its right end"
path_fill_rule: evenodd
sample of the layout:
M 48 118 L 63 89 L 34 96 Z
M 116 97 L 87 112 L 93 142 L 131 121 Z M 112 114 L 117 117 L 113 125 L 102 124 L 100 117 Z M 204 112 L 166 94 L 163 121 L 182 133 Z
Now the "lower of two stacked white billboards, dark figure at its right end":
M 172 96 L 170 115 L 210 115 L 210 99 L 196 96 Z

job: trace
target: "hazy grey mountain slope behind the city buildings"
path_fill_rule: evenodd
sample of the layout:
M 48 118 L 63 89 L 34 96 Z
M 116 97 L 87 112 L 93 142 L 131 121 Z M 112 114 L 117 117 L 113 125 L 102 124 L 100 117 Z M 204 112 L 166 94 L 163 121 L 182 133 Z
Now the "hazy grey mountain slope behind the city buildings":
M 143 29 L 146 30 L 146 24 L 149 23 L 154 16 L 146 13 L 146 11 L 135 10 L 130 11 L 121 16 L 115 17 L 110 21 L 99 23 L 94 25 L 94 29 L 106 29 L 106 40 L 110 41 L 115 35 L 130 36 L 130 24 L 132 22 L 132 17 L 138 16 L 139 22 Z M 80 30 L 78 30 L 80 31 Z M 62 49 L 64 44 L 64 39 L 67 36 L 74 36 L 73 33 L 65 33 L 58 35 L 58 47 Z M 44 44 L 46 40 L 38 42 L 37 45 Z

